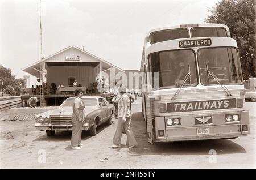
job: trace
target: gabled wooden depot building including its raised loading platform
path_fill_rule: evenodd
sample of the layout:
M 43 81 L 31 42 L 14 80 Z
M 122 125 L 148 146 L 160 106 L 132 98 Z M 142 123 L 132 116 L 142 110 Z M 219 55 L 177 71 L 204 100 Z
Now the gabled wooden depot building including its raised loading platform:
M 60 105 L 66 98 L 74 96 L 73 91 L 76 88 L 82 89 L 87 94 L 98 93 L 92 88 L 92 84 L 95 84 L 96 81 L 104 82 L 104 88 L 110 91 L 110 83 L 115 83 L 113 80 L 110 80 L 110 71 L 112 75 L 114 74 L 114 77 L 116 77 L 118 72 L 125 73 L 125 70 L 76 46 L 69 46 L 43 58 L 42 66 L 44 82 L 47 82 L 48 86 L 51 86 L 51 92 L 47 92 L 47 88 L 44 88 L 44 100 L 46 100 L 45 103 L 47 105 Z M 22 70 L 40 79 L 40 61 Z M 73 87 L 75 80 L 79 87 Z M 114 79 L 114 81 L 116 80 Z M 61 84 L 64 87 L 60 88 L 60 91 L 58 89 L 52 91 L 52 84 L 55 84 L 56 87 L 59 87 Z M 40 88 L 36 88 L 35 93 L 31 92 L 30 88 L 30 95 L 21 96 L 22 106 L 23 103 L 27 105 L 28 98 L 32 96 L 36 96 L 40 100 L 42 98 L 40 97 L 40 93 L 42 93 L 40 92 Z

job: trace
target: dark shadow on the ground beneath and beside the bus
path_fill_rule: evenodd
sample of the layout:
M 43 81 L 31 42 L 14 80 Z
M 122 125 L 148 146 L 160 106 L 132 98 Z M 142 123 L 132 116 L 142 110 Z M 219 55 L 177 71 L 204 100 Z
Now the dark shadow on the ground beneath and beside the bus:
M 246 153 L 241 145 L 232 140 L 197 140 L 189 142 L 161 142 L 150 144 L 147 142 L 146 122 L 142 112 L 133 113 L 131 129 L 138 142 L 137 148 L 130 149 L 131 154 L 139 155 L 208 155 L 210 149 L 217 154 Z

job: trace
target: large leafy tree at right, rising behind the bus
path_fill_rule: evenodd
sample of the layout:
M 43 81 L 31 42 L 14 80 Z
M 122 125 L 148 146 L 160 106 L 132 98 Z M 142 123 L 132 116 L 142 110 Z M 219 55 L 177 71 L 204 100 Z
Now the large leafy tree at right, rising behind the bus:
M 237 41 L 243 79 L 256 76 L 256 1 L 222 0 L 210 8 L 207 23 L 228 25 L 230 35 Z

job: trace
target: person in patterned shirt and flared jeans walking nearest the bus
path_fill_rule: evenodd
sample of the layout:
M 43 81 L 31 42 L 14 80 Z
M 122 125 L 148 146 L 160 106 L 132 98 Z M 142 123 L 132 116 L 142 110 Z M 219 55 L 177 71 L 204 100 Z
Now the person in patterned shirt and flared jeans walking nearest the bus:
M 113 148 L 121 148 L 121 138 L 122 138 L 122 128 L 125 129 L 127 135 L 127 143 L 129 148 L 134 148 L 138 143 L 136 142 L 133 131 L 130 128 L 130 100 L 129 96 L 126 94 L 125 88 L 119 88 L 119 93 L 121 95 L 118 102 L 118 122 L 117 130 L 113 138 Z

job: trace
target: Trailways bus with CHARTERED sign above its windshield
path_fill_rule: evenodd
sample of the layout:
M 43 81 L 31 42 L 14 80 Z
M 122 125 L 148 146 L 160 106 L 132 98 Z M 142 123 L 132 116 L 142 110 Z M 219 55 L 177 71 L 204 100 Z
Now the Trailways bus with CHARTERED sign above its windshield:
M 250 133 L 237 43 L 226 25 L 185 24 L 148 32 L 141 71 L 148 142 Z

